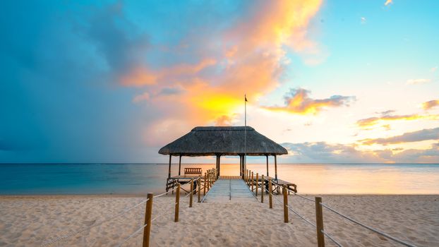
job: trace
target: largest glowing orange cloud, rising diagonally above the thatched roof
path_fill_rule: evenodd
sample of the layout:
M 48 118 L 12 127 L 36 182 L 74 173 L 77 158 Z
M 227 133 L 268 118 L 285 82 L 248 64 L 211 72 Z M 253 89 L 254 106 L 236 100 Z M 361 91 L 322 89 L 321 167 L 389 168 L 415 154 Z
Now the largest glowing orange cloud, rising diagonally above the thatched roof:
M 321 0 L 255 2 L 231 28 L 212 37 L 203 32 L 188 35 L 176 47 L 167 48 L 170 56 L 177 56 L 175 61 L 190 59 L 191 63 L 158 69 L 141 64 L 122 76 L 121 84 L 144 87 L 145 92 L 134 101 L 148 100 L 162 109 L 162 118 L 172 115 L 192 125 L 229 124 L 241 112 L 244 93 L 249 104 L 255 104 L 258 97 L 277 87 L 288 64 L 287 49 L 303 56 L 319 53 L 307 34 L 320 5 Z M 159 93 L 176 85 L 184 93 Z

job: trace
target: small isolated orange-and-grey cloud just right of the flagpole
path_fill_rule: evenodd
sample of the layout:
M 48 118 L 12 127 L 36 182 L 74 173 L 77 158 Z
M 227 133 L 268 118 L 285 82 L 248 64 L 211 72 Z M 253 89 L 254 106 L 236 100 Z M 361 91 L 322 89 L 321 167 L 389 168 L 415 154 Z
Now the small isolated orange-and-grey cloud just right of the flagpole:
M 355 100 L 355 97 L 333 95 L 323 100 L 313 100 L 309 95 L 309 90 L 303 88 L 291 89 L 285 96 L 284 107 L 265 107 L 272 111 L 283 111 L 294 114 L 316 114 L 327 107 L 349 106 L 349 102 Z

